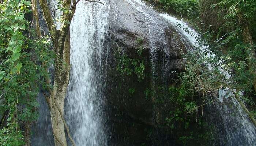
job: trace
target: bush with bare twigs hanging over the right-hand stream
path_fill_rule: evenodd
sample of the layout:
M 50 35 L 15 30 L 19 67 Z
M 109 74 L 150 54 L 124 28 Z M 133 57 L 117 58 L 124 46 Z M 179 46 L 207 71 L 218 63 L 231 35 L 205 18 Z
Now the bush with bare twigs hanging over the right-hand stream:
M 212 32 L 202 32 L 203 37 L 201 38 L 180 24 L 177 26 L 195 36 L 199 44 L 195 50 L 188 51 L 184 55 L 187 64 L 180 80 L 187 84 L 188 89 L 199 92 L 216 92 L 221 87 L 229 87 L 251 92 L 255 75 L 252 74 L 252 70 L 248 69 L 252 65 L 246 61 L 246 54 L 249 52 L 245 52 L 248 51 L 246 50 L 248 45 L 241 41 L 241 36 L 234 36 L 232 32 L 223 41 L 218 39 L 212 44 L 210 42 Z M 238 33 L 241 33 L 241 30 L 235 34 Z M 233 45 L 235 46 L 233 47 Z M 226 47 L 226 53 L 219 49 L 221 46 Z

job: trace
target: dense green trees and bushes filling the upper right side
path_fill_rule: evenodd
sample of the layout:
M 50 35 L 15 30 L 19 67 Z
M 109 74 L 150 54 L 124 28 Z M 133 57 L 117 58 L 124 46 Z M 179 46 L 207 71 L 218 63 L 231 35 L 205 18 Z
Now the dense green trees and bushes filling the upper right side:
M 149 1 L 188 19 L 201 34 L 197 36 L 198 43 L 207 48 L 199 47 L 198 51 L 185 56 L 188 63 L 181 76 L 184 83 L 199 91 L 203 86 L 212 90 L 221 87 L 241 89 L 246 95 L 244 100 L 255 105 L 255 0 Z M 177 26 L 186 30 L 180 24 Z M 223 76 L 222 70 L 231 77 Z

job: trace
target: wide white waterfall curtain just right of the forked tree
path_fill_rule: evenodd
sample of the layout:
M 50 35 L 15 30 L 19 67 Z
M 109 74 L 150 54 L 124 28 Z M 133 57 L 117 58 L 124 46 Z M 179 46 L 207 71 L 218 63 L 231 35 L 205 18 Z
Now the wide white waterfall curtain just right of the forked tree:
M 108 4 L 80 1 L 70 26 L 71 79 L 65 118 L 76 146 L 105 146 L 104 63 Z

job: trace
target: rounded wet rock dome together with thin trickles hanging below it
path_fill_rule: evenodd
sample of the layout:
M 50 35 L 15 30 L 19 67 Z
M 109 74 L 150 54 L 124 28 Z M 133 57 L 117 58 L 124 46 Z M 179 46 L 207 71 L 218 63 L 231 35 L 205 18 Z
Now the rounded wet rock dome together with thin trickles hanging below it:
M 187 41 L 176 35 L 172 24 L 139 0 L 115 0 L 112 4 L 110 31 L 113 38 L 128 49 L 136 48 L 136 39 L 143 39 L 143 48 L 151 56 L 152 78 L 163 74 L 162 77 L 168 78 L 170 68 L 182 70 L 177 62 L 182 62 L 181 54 Z M 158 70 L 162 72 L 157 73 Z

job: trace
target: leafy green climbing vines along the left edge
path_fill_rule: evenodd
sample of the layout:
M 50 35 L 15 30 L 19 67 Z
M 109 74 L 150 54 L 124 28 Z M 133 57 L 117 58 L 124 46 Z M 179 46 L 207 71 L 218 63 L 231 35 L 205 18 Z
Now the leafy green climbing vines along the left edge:
M 10 113 L 8 127 L 1 130 L 4 138 L 10 137 L 3 139 L 6 145 L 16 146 L 16 141 L 22 139 L 19 122 L 37 119 L 39 85 L 46 86 L 46 69 L 52 64 L 50 39 L 31 39 L 33 30 L 25 19 L 31 13 L 30 6 L 26 0 L 5 0 L 0 4 L 0 111 Z M 14 143 L 8 144 L 11 141 Z

